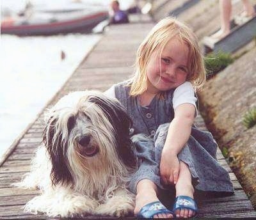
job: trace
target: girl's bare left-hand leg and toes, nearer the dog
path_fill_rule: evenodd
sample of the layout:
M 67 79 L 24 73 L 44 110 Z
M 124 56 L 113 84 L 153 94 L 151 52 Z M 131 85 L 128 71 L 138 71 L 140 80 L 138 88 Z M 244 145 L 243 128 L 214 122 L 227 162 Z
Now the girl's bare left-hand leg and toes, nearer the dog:
M 140 180 L 136 187 L 136 205 L 134 208 L 134 214 L 138 214 L 141 208 L 153 201 L 159 201 L 157 198 L 157 186 L 151 180 Z M 154 218 L 172 218 L 172 214 L 157 214 Z

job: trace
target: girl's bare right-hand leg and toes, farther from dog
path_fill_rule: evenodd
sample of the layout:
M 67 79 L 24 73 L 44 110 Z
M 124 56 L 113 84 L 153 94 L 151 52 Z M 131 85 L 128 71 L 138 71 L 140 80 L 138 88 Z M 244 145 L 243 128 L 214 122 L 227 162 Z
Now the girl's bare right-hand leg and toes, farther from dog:
M 188 165 L 180 161 L 180 171 L 179 179 L 176 188 L 176 197 L 177 196 L 189 196 L 194 198 L 194 188 L 192 185 L 192 177 L 189 171 Z M 177 217 L 192 217 L 195 215 L 195 212 L 189 209 L 181 208 L 175 211 Z

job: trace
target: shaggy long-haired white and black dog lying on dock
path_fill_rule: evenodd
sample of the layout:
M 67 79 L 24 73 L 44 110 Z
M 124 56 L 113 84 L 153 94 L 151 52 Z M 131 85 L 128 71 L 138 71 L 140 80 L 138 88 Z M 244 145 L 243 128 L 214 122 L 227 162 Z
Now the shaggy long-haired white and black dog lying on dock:
M 43 145 L 19 187 L 41 191 L 25 210 L 48 216 L 125 216 L 134 209 L 127 182 L 136 168 L 131 119 L 115 98 L 77 91 L 46 114 Z

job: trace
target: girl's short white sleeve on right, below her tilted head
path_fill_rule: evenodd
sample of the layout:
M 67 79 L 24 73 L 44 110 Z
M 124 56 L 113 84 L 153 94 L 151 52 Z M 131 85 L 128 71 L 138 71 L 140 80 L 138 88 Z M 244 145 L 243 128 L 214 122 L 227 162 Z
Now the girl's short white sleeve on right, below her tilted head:
M 177 106 L 184 103 L 189 103 L 195 106 L 196 109 L 195 90 L 190 82 L 185 82 L 178 86 L 173 93 L 173 109 L 175 110 Z M 197 114 L 197 109 L 196 109 Z

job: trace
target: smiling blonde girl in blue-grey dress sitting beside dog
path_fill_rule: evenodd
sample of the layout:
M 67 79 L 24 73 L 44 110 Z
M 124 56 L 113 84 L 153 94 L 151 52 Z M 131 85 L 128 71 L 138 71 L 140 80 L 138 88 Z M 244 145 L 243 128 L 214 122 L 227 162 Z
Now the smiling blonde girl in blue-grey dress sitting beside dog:
M 172 17 L 161 20 L 141 43 L 136 73 L 106 94 L 116 97 L 133 121 L 140 168 L 129 185 L 136 193 L 138 217 L 193 217 L 194 187 L 233 193 L 227 171 L 216 161 L 216 142 L 193 125 L 195 89 L 205 82 L 202 54 L 196 37 Z M 173 210 L 157 198 L 157 190 L 175 185 Z

